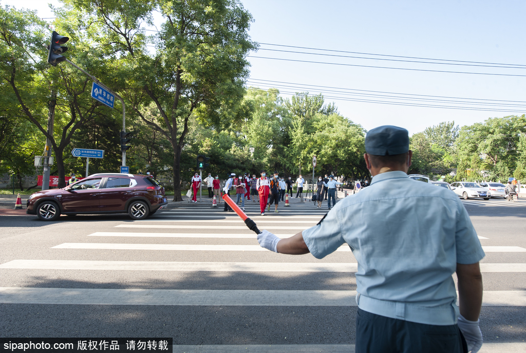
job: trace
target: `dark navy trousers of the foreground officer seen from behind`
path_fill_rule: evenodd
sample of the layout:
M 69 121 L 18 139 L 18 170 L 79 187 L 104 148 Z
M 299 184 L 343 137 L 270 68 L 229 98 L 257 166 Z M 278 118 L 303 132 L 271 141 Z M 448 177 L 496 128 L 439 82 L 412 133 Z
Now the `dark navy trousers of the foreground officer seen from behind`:
M 358 308 L 356 353 L 467 353 L 457 325 L 439 326 L 392 319 Z

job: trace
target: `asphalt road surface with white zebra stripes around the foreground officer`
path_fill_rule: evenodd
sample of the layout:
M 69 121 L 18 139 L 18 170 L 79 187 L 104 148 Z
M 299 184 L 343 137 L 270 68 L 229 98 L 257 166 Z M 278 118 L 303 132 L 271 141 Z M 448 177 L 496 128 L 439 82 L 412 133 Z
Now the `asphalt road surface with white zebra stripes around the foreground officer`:
M 486 251 L 481 351 L 526 351 L 526 199 L 463 201 Z M 247 213 L 286 237 L 326 205 Z M 272 210 L 274 206 L 272 206 Z M 39 221 L 0 210 L 2 337 L 173 337 L 174 351 L 353 351 L 355 258 L 262 251 L 222 205 Z M 485 266 L 485 267 L 484 267 Z

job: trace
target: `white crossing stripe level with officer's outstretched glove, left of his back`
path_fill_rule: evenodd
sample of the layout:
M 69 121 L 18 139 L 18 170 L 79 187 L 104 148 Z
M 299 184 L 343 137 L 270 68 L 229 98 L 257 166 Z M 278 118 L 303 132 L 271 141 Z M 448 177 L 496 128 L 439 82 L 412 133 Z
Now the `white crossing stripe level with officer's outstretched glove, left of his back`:
M 255 239 L 254 239 L 255 240 Z M 176 251 L 268 251 L 259 245 L 201 245 L 201 244 L 114 244 L 64 243 L 52 249 L 107 249 L 107 250 L 176 250 Z M 351 251 L 342 245 L 336 251 Z

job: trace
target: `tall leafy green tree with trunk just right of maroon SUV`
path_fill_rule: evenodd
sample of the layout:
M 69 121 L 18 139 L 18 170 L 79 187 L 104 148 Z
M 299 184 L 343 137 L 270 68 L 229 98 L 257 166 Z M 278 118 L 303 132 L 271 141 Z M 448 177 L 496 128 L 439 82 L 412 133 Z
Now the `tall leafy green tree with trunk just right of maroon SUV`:
M 248 76 L 250 14 L 235 0 L 67 0 L 87 24 L 90 38 L 114 69 L 116 89 L 145 124 L 163 134 L 173 151 L 174 200 L 181 200 L 181 154 L 190 119 L 219 125 L 238 106 Z M 157 6 L 157 7 L 156 7 Z M 165 22 L 147 38 L 141 23 L 157 10 Z M 154 54 L 147 44 L 153 43 Z M 153 102 L 162 122 L 145 116 Z

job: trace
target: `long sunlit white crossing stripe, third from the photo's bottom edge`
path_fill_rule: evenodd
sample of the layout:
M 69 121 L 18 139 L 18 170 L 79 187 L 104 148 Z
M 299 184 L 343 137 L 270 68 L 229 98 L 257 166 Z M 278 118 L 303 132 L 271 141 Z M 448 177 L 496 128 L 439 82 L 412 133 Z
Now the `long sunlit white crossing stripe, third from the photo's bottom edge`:
M 177 261 L 13 260 L 2 269 L 105 270 L 105 271 L 217 271 L 217 272 L 343 272 L 358 270 L 356 263 L 216 263 Z M 526 264 L 480 264 L 480 271 L 526 272 Z

